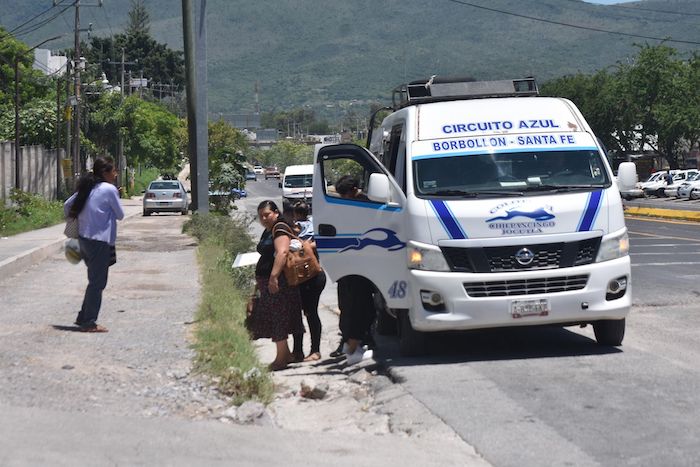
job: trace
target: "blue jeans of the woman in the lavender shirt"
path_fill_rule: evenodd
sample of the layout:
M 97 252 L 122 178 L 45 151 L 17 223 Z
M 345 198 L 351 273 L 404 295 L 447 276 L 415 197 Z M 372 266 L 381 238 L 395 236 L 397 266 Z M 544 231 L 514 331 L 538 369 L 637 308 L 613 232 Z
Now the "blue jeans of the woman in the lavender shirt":
M 88 268 L 88 286 L 85 289 L 83 306 L 80 307 L 79 326 L 93 327 L 102 306 L 102 291 L 107 286 L 109 272 L 110 248 L 109 243 L 80 237 L 80 254 Z

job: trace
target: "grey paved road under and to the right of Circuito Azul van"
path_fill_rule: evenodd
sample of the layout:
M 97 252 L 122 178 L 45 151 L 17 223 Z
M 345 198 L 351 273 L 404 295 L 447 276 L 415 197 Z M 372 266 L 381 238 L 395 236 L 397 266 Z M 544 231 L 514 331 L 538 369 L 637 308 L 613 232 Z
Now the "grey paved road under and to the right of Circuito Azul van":
M 592 329 L 443 336 L 435 355 L 382 358 L 497 466 L 700 463 L 700 225 L 629 219 L 634 308 L 624 345 Z

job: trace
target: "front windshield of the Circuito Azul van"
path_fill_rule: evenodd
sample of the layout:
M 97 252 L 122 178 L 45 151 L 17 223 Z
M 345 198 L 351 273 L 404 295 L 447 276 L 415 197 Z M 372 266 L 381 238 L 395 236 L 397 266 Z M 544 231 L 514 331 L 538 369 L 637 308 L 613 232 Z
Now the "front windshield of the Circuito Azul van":
M 499 196 L 607 188 L 595 150 L 527 151 L 428 157 L 413 161 L 417 196 Z

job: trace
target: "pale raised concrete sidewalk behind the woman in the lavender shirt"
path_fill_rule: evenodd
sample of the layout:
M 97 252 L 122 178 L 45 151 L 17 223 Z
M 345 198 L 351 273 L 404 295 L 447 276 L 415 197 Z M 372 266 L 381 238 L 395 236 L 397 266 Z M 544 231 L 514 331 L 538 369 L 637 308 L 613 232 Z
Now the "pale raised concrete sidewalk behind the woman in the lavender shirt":
M 124 220 L 141 214 L 140 198 L 122 199 L 121 202 Z M 11 237 L 0 237 L 0 280 L 17 274 L 61 251 L 66 241 L 63 235 L 65 225 L 61 223 Z

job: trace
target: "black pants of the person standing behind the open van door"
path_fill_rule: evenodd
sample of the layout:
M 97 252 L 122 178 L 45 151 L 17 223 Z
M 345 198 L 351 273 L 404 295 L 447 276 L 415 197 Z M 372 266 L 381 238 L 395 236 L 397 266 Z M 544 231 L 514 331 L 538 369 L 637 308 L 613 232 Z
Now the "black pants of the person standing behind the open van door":
M 376 318 L 372 286 L 359 277 L 343 277 L 338 280 L 338 308 L 340 308 L 340 332 L 343 341 L 362 341 L 371 333 Z

